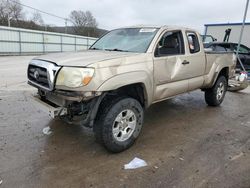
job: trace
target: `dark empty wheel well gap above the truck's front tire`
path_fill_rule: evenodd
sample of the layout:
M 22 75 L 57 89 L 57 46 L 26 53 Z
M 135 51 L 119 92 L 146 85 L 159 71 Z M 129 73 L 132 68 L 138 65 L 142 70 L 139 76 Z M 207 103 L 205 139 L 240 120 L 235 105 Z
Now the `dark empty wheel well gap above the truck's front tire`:
M 106 95 L 108 98 L 116 96 L 129 96 L 138 100 L 143 108 L 147 106 L 146 91 L 143 83 L 126 85 L 116 90 L 109 91 Z

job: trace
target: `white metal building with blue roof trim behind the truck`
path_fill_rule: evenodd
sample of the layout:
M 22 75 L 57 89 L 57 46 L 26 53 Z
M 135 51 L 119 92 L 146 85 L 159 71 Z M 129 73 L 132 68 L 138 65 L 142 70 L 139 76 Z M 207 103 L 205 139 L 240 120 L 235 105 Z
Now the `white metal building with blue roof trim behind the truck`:
M 205 24 L 204 35 L 212 35 L 217 41 L 222 42 L 227 29 L 231 29 L 229 42 L 238 43 L 242 23 L 219 23 Z M 250 47 L 250 22 L 245 23 L 245 29 L 242 37 L 242 44 Z

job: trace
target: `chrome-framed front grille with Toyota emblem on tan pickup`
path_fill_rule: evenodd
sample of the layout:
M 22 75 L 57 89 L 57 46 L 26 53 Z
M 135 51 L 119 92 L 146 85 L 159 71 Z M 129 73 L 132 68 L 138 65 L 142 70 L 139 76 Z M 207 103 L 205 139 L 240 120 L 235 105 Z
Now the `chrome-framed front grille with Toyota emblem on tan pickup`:
M 52 91 L 59 66 L 42 60 L 32 60 L 28 66 L 29 83 L 39 88 Z

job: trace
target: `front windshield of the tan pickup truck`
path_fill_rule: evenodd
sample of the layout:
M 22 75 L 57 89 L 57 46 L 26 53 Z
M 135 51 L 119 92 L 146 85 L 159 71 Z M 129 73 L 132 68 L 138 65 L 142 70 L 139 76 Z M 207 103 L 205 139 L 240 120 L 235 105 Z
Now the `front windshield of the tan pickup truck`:
M 90 49 L 145 53 L 157 28 L 125 28 L 110 31 Z

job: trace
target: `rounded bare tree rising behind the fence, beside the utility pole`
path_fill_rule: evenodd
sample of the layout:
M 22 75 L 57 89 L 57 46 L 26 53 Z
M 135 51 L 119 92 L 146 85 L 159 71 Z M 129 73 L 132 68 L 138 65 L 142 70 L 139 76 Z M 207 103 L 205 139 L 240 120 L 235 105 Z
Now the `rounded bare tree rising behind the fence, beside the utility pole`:
M 70 13 L 70 21 L 76 34 L 96 36 L 97 21 L 90 11 L 74 10 Z

